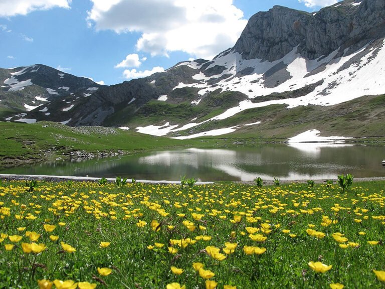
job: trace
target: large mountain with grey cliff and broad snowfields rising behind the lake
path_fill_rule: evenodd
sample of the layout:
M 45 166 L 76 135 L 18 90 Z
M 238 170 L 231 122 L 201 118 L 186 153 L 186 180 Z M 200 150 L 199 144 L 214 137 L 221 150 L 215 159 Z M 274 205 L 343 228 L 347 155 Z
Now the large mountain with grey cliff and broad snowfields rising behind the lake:
M 354 111 L 327 115 L 328 111 L 340 109 L 346 101 L 385 93 L 384 39 L 383 0 L 345 0 L 316 13 L 275 6 L 254 15 L 236 45 L 212 61 L 181 62 L 146 78 L 100 87 L 89 97 L 69 102 L 74 106 L 65 118 L 74 126 L 124 126 L 176 137 L 258 134 L 264 126 L 286 135 L 312 127 L 310 120 L 301 120 L 300 107 L 307 107 L 322 114 L 323 127 L 332 132 L 333 127 L 342 127 L 329 124 L 334 117 Z M 8 90 L 11 82 L 7 81 Z M 55 117 L 64 114 L 61 97 L 50 101 L 47 109 Z M 351 106 L 357 109 L 354 103 Z M 290 115 L 294 112 L 297 115 Z M 28 118 L 45 119 L 45 113 L 42 106 Z M 370 123 L 372 118 L 382 119 L 383 113 L 367 115 L 371 118 L 364 121 Z M 285 123 L 290 129 L 276 131 Z M 380 128 L 375 131 L 382 133 Z

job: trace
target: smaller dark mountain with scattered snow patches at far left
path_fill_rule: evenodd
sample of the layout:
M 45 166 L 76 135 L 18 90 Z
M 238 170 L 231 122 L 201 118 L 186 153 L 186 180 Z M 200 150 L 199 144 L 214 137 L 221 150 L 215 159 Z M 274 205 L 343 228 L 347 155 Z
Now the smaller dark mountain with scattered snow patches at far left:
M 103 87 L 88 78 L 42 64 L 0 68 L 0 83 L 0 115 L 7 115 L 7 120 L 25 122 L 34 122 L 27 117 L 32 110 L 36 110 L 38 120 L 66 122 L 71 118 L 71 114 L 68 114 L 69 118 L 66 115 L 71 106 Z M 56 101 L 60 101 L 60 105 L 56 103 L 53 107 L 52 103 Z M 15 112 L 18 113 L 16 116 Z

